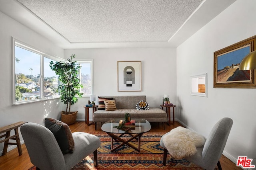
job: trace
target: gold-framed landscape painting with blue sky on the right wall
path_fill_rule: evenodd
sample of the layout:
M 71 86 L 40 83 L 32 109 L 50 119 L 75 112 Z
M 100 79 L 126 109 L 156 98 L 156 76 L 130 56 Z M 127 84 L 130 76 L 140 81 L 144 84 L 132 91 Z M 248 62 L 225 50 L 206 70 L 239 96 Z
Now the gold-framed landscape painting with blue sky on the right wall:
M 242 59 L 256 50 L 256 36 L 214 52 L 214 88 L 256 88 L 254 70 L 239 70 Z

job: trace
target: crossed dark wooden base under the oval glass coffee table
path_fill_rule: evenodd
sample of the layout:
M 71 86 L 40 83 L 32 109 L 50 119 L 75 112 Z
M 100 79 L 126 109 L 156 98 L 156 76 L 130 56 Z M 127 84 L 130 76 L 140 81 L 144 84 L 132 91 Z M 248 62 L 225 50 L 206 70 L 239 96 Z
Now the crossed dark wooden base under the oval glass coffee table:
M 109 132 L 106 132 L 108 135 L 110 135 L 111 137 L 111 152 L 113 152 L 114 150 L 122 147 L 123 145 L 128 145 L 129 147 L 137 150 L 138 152 L 140 152 L 140 137 L 143 135 L 143 133 L 136 133 L 136 134 L 130 134 L 130 133 L 122 133 L 121 135 L 115 135 L 114 133 L 109 133 Z M 130 139 L 128 140 L 124 140 L 122 139 L 121 137 L 124 135 L 124 134 L 129 134 L 131 136 Z M 138 148 L 134 147 L 133 145 L 131 145 L 129 142 L 132 141 L 133 139 L 136 139 L 138 140 Z M 115 141 L 120 141 L 122 142 L 120 145 L 114 147 L 114 140 Z

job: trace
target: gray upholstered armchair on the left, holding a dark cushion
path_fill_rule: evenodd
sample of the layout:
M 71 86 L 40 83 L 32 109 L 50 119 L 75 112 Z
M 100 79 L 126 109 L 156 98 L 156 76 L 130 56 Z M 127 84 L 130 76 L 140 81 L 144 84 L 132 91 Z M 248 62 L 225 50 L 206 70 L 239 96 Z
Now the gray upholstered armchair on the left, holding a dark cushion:
M 41 170 L 70 170 L 90 153 L 94 153 L 94 164 L 97 166 L 97 149 L 100 139 L 95 135 L 72 133 L 75 148 L 73 153 L 62 154 L 60 147 L 46 127 L 36 123 L 25 123 L 20 127 L 32 164 Z

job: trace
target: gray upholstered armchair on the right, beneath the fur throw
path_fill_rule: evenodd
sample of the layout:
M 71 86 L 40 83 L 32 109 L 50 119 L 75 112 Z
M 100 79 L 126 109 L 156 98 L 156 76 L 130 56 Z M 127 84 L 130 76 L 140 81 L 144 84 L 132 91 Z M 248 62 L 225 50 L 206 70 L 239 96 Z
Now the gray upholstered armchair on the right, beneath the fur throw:
M 190 157 L 185 157 L 185 159 L 201 166 L 206 170 L 214 170 L 217 164 L 218 169 L 221 170 L 222 168 L 220 166 L 219 160 L 226 145 L 232 125 L 232 119 L 228 117 L 220 119 L 220 121 L 218 121 L 212 128 L 212 131 L 206 139 L 204 147 L 197 148 L 196 154 Z M 165 137 L 165 135 L 162 136 L 160 140 L 160 145 L 164 148 L 164 165 L 166 165 L 166 158 L 168 153 L 168 150 L 162 142 L 162 139 Z

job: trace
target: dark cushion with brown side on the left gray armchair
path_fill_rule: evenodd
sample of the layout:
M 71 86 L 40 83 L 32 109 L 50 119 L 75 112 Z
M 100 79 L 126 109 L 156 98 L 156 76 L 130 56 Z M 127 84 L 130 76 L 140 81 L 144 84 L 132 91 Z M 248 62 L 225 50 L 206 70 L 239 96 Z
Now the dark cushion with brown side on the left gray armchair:
M 46 117 L 44 126 L 53 133 L 63 154 L 73 152 L 75 143 L 72 133 L 66 123 Z

